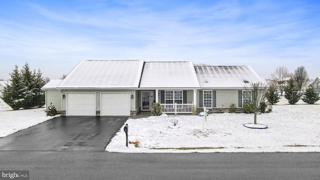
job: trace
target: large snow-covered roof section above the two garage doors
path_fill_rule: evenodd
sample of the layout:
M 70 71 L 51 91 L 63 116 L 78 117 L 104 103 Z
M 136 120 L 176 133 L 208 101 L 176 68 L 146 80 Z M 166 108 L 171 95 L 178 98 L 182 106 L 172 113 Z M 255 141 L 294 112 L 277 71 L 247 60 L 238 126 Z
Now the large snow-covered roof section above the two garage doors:
M 143 60 L 81 60 L 57 88 L 138 87 Z

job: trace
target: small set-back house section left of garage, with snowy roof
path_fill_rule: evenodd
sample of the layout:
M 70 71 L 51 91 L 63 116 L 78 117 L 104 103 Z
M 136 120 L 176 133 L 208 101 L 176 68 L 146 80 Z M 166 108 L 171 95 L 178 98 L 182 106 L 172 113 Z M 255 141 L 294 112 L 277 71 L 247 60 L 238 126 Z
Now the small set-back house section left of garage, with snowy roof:
M 48 109 L 50 103 L 55 106 L 55 109 L 58 113 L 61 113 L 61 92 L 56 89 L 56 86 L 61 82 L 61 79 L 52 79 L 46 83 L 42 89 L 45 91 L 45 109 Z

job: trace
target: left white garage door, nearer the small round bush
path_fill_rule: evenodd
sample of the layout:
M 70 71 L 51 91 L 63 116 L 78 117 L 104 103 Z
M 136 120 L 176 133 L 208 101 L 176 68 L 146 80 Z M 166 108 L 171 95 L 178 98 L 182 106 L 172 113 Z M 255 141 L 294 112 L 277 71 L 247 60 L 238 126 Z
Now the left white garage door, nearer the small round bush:
M 66 93 L 66 115 L 95 115 L 95 93 Z

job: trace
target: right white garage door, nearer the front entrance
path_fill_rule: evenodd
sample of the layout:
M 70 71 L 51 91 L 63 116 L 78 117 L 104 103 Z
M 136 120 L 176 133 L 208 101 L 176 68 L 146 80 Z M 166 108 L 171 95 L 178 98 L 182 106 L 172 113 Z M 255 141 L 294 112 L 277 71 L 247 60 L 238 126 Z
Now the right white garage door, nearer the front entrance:
M 101 93 L 101 115 L 130 115 L 130 93 Z

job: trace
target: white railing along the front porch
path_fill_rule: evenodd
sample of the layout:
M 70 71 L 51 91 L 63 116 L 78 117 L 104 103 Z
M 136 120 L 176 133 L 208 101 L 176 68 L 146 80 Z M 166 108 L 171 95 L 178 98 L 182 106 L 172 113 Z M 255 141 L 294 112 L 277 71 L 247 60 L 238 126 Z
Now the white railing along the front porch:
M 192 103 L 164 103 L 161 104 L 161 110 L 163 113 L 192 113 Z

